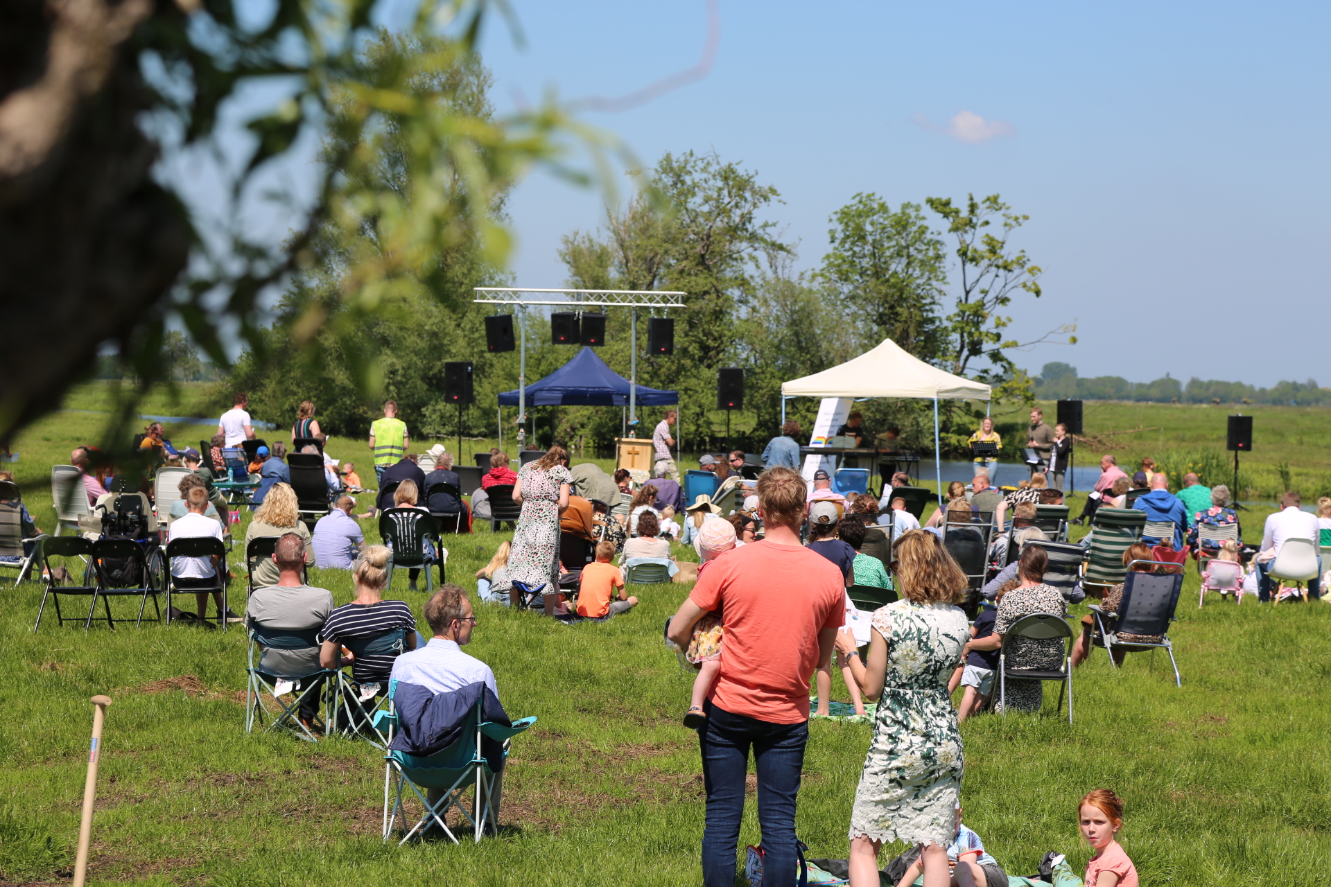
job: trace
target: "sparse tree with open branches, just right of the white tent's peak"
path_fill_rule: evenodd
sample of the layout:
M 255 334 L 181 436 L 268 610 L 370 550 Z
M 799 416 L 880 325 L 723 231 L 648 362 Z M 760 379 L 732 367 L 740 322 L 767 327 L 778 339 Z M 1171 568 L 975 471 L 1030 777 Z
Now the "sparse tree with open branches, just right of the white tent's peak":
M 1042 336 L 1022 342 L 1008 338 L 1012 318 L 1000 314 L 1012 305 L 1018 293 L 1038 298 L 1040 266 L 1025 250 L 1013 251 L 1009 238 L 1029 221 L 1029 215 L 1009 211 L 998 194 L 977 201 L 966 195 L 965 206 L 954 206 L 952 198 L 930 197 L 925 203 L 948 223 L 948 234 L 956 243 L 958 278 L 956 302 L 944 320 L 948 338 L 942 348 L 942 366 L 957 375 L 968 375 L 997 384 L 1000 398 L 1030 399 L 1030 380 L 1021 372 L 1009 350 L 1024 348 L 1042 342 L 1061 340 L 1074 344 L 1075 324 L 1065 324 Z M 994 225 L 997 223 L 997 229 Z M 972 362 L 985 358 L 989 367 L 976 370 Z

